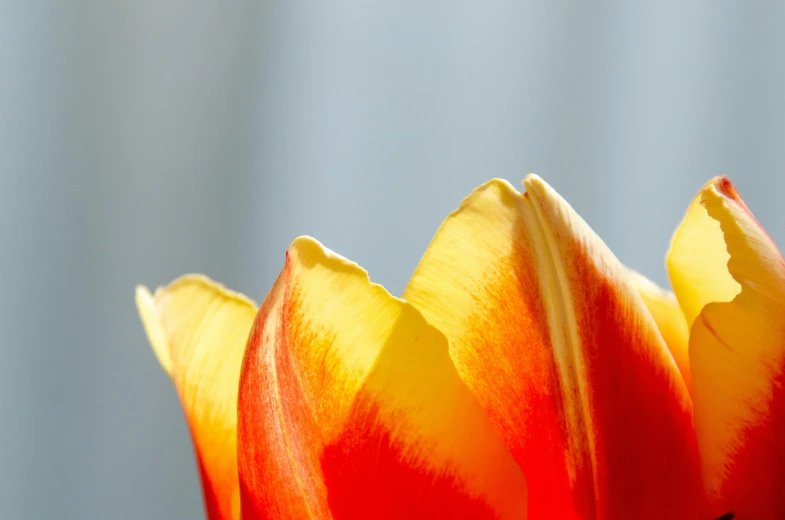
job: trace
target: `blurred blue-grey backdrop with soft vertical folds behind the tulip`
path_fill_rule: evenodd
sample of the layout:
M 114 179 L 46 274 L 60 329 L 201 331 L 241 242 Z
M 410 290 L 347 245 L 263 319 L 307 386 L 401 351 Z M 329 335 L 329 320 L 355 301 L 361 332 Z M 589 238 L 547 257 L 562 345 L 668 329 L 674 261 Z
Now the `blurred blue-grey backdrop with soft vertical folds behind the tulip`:
M 680 4 L 0 0 L 0 518 L 202 517 L 138 282 L 309 234 L 400 294 L 528 172 L 660 283 L 720 173 L 785 244 L 785 4 Z

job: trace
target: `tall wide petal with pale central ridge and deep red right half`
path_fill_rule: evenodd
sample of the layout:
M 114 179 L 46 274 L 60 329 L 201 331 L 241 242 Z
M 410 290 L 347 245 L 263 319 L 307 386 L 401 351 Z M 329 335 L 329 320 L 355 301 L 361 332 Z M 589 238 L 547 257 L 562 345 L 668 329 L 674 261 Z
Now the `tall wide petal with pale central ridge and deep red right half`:
M 586 223 L 525 185 L 472 193 L 404 297 L 524 469 L 530 518 L 701 518 L 691 403 L 661 335 Z

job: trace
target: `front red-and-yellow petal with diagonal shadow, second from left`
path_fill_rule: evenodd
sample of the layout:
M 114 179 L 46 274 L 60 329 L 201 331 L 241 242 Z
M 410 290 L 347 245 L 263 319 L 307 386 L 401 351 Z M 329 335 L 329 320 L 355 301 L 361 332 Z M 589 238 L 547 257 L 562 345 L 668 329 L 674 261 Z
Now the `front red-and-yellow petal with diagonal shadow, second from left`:
M 259 310 L 238 410 L 244 520 L 525 517 L 444 336 L 312 239 Z

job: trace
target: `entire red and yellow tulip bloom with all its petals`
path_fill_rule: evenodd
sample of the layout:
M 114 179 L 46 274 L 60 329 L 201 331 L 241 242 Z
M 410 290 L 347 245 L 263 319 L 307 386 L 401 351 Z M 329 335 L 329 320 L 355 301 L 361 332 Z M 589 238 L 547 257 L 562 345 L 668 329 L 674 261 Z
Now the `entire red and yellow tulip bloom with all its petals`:
M 310 238 L 259 308 L 137 289 L 211 520 L 785 518 L 785 262 L 730 182 L 674 294 L 524 185 L 469 195 L 402 299 Z

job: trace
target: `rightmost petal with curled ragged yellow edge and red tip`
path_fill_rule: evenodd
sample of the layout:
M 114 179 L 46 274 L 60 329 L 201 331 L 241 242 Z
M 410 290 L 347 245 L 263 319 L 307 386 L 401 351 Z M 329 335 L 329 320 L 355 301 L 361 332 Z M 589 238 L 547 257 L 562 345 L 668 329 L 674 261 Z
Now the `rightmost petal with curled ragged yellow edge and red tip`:
M 701 234 L 709 218 L 716 233 Z M 695 426 L 716 512 L 785 518 L 785 261 L 723 177 L 696 198 L 668 260 L 679 301 L 687 309 L 706 304 L 689 349 Z

